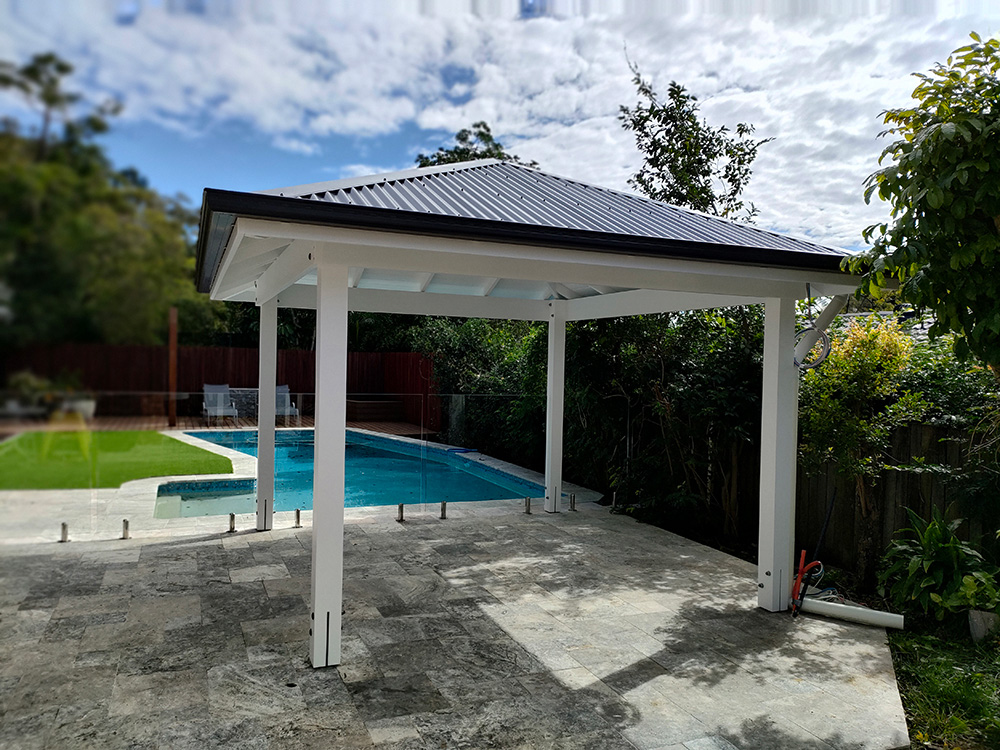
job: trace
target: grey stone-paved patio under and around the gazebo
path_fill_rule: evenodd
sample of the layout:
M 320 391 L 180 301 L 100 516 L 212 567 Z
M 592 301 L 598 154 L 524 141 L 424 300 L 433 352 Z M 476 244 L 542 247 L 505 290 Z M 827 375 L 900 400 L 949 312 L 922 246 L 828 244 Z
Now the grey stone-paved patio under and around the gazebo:
M 0 493 L 0 747 L 908 746 L 882 630 L 764 613 L 748 563 L 592 503 L 349 511 L 313 670 L 309 514 L 227 534 L 143 491 Z

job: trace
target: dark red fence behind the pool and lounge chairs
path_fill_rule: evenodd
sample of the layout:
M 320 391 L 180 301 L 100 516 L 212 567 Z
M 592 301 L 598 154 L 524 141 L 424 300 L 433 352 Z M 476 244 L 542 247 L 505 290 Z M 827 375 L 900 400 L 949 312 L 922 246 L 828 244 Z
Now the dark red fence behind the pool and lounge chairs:
M 314 393 L 315 363 L 315 352 L 311 350 L 279 350 L 278 384 L 287 385 L 293 394 Z M 30 370 L 53 380 L 70 377 L 82 388 L 100 393 L 164 393 L 167 390 L 165 346 L 40 346 L 4 357 L 0 365 L 4 380 L 12 373 Z M 258 374 L 256 349 L 178 347 L 179 393 L 201 393 L 206 383 L 256 388 Z M 347 355 L 348 393 L 399 397 L 404 403 L 407 421 L 436 430 L 440 427 L 441 407 L 433 381 L 431 361 L 421 354 L 349 352 Z M 312 399 L 306 401 L 311 404 Z

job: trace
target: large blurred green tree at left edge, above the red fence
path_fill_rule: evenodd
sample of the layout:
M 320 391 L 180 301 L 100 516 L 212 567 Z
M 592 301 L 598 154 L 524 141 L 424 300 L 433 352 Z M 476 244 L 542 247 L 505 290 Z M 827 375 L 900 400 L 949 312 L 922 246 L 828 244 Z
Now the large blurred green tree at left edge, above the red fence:
M 0 126 L 0 279 L 12 314 L 0 347 L 159 343 L 171 305 L 182 331 L 210 332 L 221 305 L 194 288 L 196 215 L 135 170 L 112 167 L 92 136 L 113 108 L 81 113 L 79 95 L 64 88 L 72 69 L 51 53 L 0 62 L 0 88 L 40 113 L 37 128 Z

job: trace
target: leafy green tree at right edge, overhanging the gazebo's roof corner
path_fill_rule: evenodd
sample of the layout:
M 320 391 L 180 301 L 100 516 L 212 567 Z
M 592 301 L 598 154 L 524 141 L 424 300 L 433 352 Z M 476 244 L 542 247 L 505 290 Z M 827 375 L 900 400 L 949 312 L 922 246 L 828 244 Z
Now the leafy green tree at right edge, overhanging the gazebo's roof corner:
M 955 334 L 955 353 L 980 358 L 1000 378 L 1000 41 L 955 50 L 930 74 L 915 73 L 916 103 L 883 113 L 897 136 L 866 181 L 891 220 L 864 232 L 871 248 L 846 261 L 859 293 L 899 284 L 930 310 L 932 336 Z M 874 238 L 874 239 L 873 239 Z

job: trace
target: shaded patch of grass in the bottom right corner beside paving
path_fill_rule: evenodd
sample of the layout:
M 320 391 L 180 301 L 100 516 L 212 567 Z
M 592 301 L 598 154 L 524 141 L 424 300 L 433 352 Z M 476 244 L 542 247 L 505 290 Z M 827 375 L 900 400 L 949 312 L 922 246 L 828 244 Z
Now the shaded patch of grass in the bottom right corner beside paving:
M 1000 747 L 1000 638 L 972 643 L 961 627 L 889 636 L 914 748 Z M 923 631 L 923 632 L 921 632 Z

